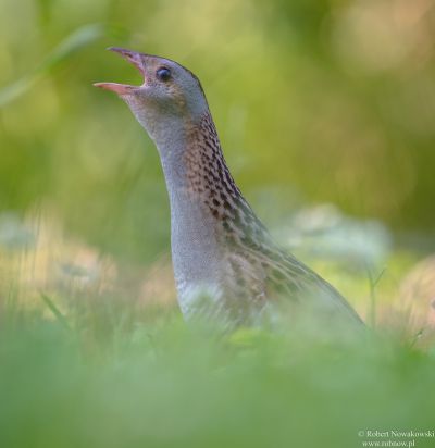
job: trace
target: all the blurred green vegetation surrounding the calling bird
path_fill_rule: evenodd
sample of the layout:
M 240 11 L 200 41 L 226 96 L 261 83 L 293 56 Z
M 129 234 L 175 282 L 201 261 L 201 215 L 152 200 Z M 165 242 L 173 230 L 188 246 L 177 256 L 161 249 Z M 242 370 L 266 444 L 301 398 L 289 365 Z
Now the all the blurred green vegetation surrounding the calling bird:
M 0 0 L 0 446 L 433 430 L 434 41 L 432 0 Z M 200 77 L 260 217 L 393 336 L 184 327 L 157 151 L 91 86 L 140 83 L 109 46 Z

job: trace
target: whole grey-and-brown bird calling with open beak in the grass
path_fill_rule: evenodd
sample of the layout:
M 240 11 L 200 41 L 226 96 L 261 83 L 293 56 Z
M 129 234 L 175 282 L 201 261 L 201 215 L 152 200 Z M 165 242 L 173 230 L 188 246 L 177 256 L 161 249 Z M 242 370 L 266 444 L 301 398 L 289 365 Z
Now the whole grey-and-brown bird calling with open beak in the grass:
M 288 304 L 294 313 L 304 309 L 321 319 L 363 325 L 330 283 L 273 240 L 243 196 L 199 78 L 171 59 L 117 47 L 109 50 L 144 77 L 140 86 L 94 85 L 124 100 L 158 149 L 184 318 L 201 315 L 239 328 L 275 321 Z

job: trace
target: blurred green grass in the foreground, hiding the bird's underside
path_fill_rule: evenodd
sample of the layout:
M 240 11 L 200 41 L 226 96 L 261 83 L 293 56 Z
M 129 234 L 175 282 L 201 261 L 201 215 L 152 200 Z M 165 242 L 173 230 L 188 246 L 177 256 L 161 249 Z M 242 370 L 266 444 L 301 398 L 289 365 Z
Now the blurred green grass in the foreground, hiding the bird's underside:
M 434 428 L 435 352 L 397 335 L 221 337 L 115 299 L 60 313 L 3 302 L 1 447 L 347 448 L 376 439 L 360 431 Z

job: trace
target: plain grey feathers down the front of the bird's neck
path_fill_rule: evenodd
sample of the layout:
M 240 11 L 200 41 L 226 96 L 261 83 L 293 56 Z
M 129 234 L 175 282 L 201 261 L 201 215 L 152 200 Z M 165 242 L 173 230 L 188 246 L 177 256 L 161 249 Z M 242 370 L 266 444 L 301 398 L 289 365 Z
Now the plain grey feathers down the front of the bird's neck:
M 188 313 L 192 288 L 219 289 L 222 251 L 219 223 L 207 207 L 207 198 L 192 188 L 192 176 L 203 178 L 196 159 L 199 125 L 172 123 L 154 136 L 171 204 L 171 246 L 175 281 L 183 311 Z M 170 129 L 170 130 L 167 130 Z

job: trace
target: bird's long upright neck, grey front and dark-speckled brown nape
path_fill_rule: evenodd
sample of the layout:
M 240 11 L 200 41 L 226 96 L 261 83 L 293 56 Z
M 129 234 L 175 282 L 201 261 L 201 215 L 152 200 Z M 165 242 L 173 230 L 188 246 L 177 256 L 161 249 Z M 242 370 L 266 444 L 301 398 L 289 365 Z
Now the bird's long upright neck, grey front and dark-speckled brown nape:
M 188 285 L 219 287 L 226 244 L 257 219 L 229 174 L 213 120 L 207 113 L 197 123 L 174 123 L 154 141 L 170 196 L 178 294 L 188 295 Z

